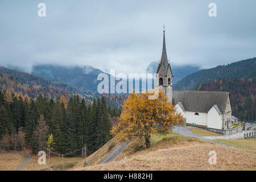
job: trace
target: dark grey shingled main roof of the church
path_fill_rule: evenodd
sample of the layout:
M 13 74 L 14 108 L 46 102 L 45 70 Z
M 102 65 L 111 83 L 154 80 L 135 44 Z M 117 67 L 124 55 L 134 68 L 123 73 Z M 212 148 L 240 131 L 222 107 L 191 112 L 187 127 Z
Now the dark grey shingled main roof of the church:
M 208 113 L 213 105 L 217 105 L 224 114 L 229 92 L 174 90 L 172 99 L 174 105 L 181 102 L 186 111 Z

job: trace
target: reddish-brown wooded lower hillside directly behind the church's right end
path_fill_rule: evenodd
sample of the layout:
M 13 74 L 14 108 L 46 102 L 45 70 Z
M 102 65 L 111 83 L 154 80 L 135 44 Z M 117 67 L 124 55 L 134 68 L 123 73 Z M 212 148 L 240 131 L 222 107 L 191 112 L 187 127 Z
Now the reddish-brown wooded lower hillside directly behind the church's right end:
M 232 115 L 240 119 L 255 121 L 256 78 L 220 78 L 197 86 L 195 90 L 227 91 L 230 93 Z

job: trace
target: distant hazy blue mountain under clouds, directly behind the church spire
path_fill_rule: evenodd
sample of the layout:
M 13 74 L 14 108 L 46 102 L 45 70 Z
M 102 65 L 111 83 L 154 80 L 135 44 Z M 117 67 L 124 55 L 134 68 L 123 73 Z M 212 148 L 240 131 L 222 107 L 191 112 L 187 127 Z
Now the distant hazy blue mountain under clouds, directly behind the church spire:
M 148 65 L 146 72 L 147 73 L 156 73 L 157 69 L 158 69 L 158 62 L 153 61 L 152 63 L 150 63 L 150 65 Z M 174 75 L 172 83 L 175 84 L 177 81 L 181 80 L 185 76 L 199 71 L 200 67 L 192 66 L 192 65 L 171 64 L 171 69 L 172 69 L 172 74 Z

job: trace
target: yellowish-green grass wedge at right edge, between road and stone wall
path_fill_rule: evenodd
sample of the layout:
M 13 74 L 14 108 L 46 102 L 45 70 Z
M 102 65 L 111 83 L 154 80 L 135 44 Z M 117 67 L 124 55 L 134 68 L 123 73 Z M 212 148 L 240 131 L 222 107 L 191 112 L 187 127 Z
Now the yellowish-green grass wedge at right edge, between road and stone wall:
M 256 151 L 256 138 L 216 139 L 216 141 L 229 144 L 230 146 L 243 148 L 245 150 Z

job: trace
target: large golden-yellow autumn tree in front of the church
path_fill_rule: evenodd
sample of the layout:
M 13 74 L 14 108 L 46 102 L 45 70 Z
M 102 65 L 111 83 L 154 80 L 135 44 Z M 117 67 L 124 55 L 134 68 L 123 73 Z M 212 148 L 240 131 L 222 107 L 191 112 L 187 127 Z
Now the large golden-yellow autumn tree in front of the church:
M 172 126 L 183 123 L 183 116 L 177 113 L 162 91 L 155 100 L 149 100 L 152 93 L 132 93 L 122 105 L 119 123 L 114 125 L 111 134 L 120 142 L 130 139 L 145 140 L 150 147 L 151 134 L 168 134 Z

